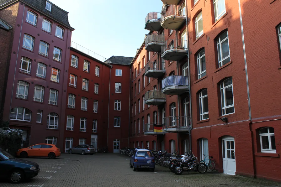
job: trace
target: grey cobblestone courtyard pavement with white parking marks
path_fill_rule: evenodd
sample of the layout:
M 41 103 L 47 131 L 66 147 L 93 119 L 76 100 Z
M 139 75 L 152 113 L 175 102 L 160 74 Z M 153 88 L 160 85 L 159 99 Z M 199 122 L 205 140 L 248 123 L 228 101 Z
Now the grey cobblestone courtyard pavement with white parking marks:
M 0 181 L 0 187 L 278 187 L 280 183 L 217 173 L 176 175 L 156 166 L 154 172 L 134 172 L 120 154 L 62 154 L 56 159 L 26 158 L 40 165 L 40 173 L 21 184 Z

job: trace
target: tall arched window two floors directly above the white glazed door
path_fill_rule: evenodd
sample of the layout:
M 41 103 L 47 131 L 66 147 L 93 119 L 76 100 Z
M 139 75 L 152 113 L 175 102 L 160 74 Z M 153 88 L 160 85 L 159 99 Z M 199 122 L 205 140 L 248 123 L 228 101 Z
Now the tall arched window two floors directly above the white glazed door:
M 219 67 L 230 62 L 230 52 L 228 44 L 228 32 L 224 32 L 217 39 L 218 55 L 219 55 Z

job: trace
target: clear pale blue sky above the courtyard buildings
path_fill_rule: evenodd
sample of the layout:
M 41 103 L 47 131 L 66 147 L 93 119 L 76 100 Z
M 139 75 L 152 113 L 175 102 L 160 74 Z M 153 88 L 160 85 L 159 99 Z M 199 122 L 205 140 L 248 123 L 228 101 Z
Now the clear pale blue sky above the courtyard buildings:
M 134 57 L 149 32 L 144 29 L 147 13 L 162 8 L 161 0 L 50 1 L 69 12 L 72 41 L 105 58 Z

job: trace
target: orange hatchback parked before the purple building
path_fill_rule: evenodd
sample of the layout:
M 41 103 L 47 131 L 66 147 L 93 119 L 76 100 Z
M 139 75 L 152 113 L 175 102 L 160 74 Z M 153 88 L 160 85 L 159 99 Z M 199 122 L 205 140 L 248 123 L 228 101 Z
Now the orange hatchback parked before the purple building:
M 61 156 L 61 149 L 57 148 L 57 146 L 53 144 L 41 143 L 30 146 L 29 148 L 19 149 L 17 151 L 17 156 L 21 158 L 49 157 L 50 159 L 54 159 Z

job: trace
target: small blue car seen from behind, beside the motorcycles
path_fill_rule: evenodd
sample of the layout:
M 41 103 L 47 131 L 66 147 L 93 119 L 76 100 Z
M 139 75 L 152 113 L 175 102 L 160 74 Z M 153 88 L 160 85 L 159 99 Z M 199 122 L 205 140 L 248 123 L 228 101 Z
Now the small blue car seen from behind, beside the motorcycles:
M 141 168 L 147 168 L 151 171 L 155 169 L 155 159 L 148 149 L 135 149 L 130 159 L 130 168 L 134 171 Z

